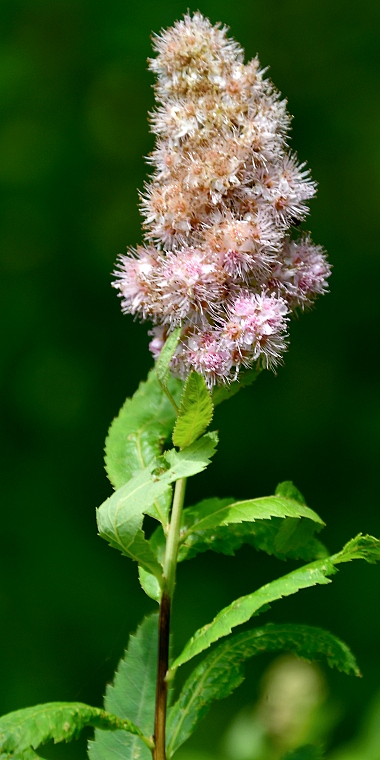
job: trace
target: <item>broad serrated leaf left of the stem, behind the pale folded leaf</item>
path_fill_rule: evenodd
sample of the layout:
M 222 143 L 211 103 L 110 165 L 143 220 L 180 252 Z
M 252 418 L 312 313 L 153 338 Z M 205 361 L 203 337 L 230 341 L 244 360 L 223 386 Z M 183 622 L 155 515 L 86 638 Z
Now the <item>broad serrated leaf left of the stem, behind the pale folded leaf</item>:
M 170 377 L 168 384 L 171 395 L 178 401 L 183 383 Z M 108 432 L 105 465 L 114 488 L 121 488 L 161 454 L 175 419 L 173 406 L 152 369 L 132 398 L 126 400 Z M 165 523 L 169 508 L 170 494 L 160 497 L 154 516 Z

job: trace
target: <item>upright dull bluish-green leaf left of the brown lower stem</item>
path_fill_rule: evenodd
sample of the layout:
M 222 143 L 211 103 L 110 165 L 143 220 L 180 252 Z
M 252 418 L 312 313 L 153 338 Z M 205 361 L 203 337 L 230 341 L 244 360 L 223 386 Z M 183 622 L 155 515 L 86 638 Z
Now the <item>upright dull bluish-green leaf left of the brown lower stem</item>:
M 105 708 L 135 721 L 145 736 L 153 734 L 158 648 L 158 615 L 143 620 L 129 639 L 112 686 L 107 686 Z M 90 760 L 151 760 L 148 748 L 124 731 L 95 731 L 89 742 Z

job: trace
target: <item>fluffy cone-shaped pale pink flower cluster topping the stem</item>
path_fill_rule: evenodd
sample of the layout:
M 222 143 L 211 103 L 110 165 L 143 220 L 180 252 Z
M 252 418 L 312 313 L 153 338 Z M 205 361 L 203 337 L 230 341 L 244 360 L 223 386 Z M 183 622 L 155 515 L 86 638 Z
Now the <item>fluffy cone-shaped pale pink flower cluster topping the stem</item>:
M 123 311 L 150 320 L 155 357 L 182 326 L 173 370 L 211 386 L 242 367 L 275 366 L 292 311 L 324 293 L 329 265 L 292 239 L 315 184 L 289 152 L 285 101 L 257 59 L 200 13 L 155 39 L 157 75 L 142 198 L 146 244 L 121 256 Z

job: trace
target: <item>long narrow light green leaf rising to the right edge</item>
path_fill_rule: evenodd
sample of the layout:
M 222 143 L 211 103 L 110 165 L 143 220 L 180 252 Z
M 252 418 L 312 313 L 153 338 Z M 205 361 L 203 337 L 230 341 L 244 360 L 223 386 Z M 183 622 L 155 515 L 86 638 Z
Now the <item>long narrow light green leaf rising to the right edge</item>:
M 169 672 L 173 674 L 184 662 L 188 662 L 215 641 L 231 633 L 232 628 L 246 623 L 260 609 L 267 609 L 271 602 L 295 594 L 303 588 L 330 583 L 328 576 L 336 572 L 335 566 L 352 559 L 364 559 L 367 562 L 378 561 L 380 559 L 380 541 L 373 536 L 359 534 L 349 541 L 338 554 L 304 565 L 288 573 L 288 575 L 272 581 L 272 583 L 267 583 L 252 594 L 236 599 L 228 607 L 221 610 L 211 623 L 196 631 L 182 653 L 173 662 Z

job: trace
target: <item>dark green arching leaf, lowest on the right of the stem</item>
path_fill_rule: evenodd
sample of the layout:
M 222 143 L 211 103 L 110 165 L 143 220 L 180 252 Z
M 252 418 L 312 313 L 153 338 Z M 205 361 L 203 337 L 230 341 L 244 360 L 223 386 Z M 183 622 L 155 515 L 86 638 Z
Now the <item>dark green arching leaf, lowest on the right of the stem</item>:
M 330 667 L 360 675 L 349 648 L 336 636 L 306 625 L 266 625 L 219 645 L 193 670 L 168 715 L 168 756 L 176 752 L 208 712 L 244 680 L 243 665 L 261 652 L 290 651 L 307 660 L 326 658 Z

